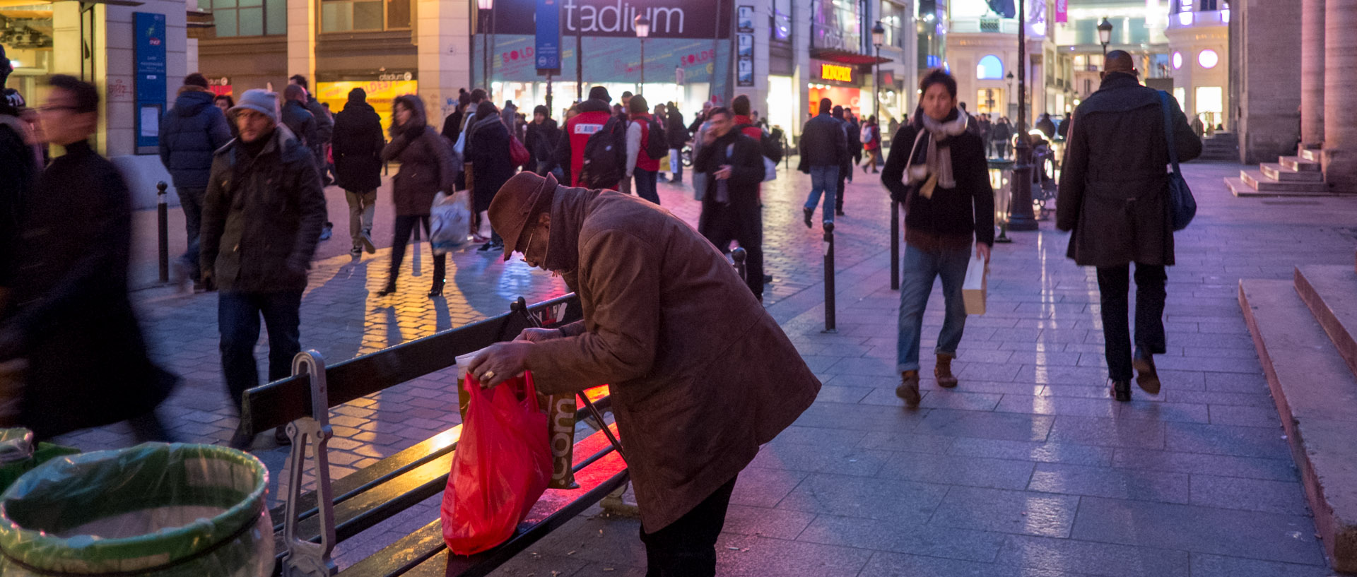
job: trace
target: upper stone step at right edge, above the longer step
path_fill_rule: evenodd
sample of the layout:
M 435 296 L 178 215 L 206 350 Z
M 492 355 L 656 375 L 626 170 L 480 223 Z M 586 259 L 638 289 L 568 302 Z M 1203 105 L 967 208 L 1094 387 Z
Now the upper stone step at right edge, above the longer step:
M 1346 265 L 1296 267 L 1296 294 L 1357 375 L 1357 271 Z

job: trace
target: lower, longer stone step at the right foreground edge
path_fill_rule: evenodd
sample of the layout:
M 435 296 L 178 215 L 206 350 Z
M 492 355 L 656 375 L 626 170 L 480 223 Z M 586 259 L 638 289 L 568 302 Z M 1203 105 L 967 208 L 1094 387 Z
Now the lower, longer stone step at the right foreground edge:
M 1357 377 L 1296 282 L 1243 279 L 1239 305 L 1324 551 L 1335 570 L 1357 572 Z

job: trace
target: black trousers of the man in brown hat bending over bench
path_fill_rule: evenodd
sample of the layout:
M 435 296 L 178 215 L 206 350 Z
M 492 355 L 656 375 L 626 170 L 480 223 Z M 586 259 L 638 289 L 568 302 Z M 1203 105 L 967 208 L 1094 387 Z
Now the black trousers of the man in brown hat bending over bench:
M 737 477 L 738 478 L 738 477 Z M 716 538 L 726 524 L 726 509 L 735 479 L 722 485 L 687 515 L 668 527 L 647 534 L 646 577 L 712 577 L 716 574 Z

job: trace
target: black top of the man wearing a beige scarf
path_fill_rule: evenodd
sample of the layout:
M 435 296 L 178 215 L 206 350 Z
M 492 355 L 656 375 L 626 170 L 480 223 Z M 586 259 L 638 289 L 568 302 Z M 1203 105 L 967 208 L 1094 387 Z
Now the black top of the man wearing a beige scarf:
M 909 168 L 909 152 L 915 137 L 923 127 L 923 112 L 915 121 L 902 125 L 890 144 L 890 156 L 881 169 L 881 183 L 890 191 L 890 198 L 905 206 L 906 240 L 917 233 L 946 244 L 949 238 L 976 238 L 976 242 L 995 244 L 995 191 L 989 187 L 989 163 L 985 158 L 985 145 L 980 137 L 966 131 L 949 137 L 951 149 L 951 173 L 957 181 L 954 188 L 934 188 L 932 198 L 919 194 L 919 184 L 905 184 L 905 171 Z M 954 121 L 953 111 L 951 121 Z M 969 126 L 969 122 L 968 122 Z M 928 137 L 924 137 L 925 140 Z M 919 144 L 923 148 L 923 142 Z

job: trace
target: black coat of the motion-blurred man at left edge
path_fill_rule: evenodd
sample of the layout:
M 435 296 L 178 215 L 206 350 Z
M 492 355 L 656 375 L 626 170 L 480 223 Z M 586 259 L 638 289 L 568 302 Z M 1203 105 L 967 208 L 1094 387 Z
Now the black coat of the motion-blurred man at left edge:
M 88 142 L 72 144 L 38 176 L 20 221 L 3 320 L 28 360 L 19 424 L 49 437 L 153 409 L 176 378 L 151 363 L 128 301 L 132 196 L 122 176 Z

